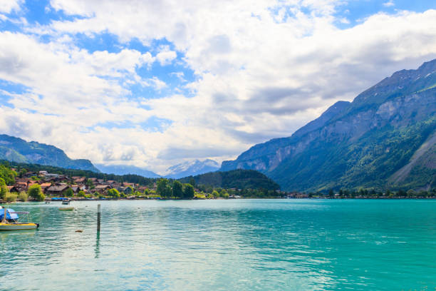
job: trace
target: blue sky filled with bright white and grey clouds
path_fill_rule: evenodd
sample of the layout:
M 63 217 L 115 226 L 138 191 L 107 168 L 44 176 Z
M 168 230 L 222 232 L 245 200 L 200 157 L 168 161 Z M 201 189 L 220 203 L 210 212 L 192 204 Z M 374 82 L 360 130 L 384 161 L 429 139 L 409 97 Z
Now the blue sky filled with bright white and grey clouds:
M 436 58 L 436 2 L 0 0 L 0 133 L 165 173 Z

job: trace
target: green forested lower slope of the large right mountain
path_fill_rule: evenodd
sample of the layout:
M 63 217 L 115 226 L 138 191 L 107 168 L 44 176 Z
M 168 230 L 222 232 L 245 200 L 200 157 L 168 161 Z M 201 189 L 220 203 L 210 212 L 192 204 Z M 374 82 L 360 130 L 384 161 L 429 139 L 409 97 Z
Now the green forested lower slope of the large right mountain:
M 405 189 L 436 187 L 436 169 L 412 169 L 407 180 L 389 181 L 407 165 L 415 151 L 429 138 L 436 118 L 403 128 L 378 128 L 365 133 L 355 143 L 314 143 L 308 150 L 285 160 L 271 172 L 284 188 L 328 190 L 330 188 Z M 299 169 L 296 171 L 295 169 Z M 286 177 L 286 178 L 285 178 Z

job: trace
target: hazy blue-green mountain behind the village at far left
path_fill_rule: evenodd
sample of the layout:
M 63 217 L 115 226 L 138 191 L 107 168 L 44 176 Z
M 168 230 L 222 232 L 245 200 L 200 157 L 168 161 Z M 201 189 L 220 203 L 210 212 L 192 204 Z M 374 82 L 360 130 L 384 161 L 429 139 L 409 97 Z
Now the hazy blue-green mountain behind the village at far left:
M 0 135 L 0 159 L 18 163 L 36 163 L 61 168 L 100 171 L 90 160 L 71 160 L 63 150 L 36 141 L 24 141 L 14 136 Z

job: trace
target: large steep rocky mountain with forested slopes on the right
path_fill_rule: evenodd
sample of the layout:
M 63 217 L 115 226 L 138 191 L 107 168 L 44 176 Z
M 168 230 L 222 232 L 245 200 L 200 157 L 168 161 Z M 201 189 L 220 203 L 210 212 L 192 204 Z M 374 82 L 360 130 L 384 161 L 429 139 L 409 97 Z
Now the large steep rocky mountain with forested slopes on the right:
M 393 73 L 220 170 L 238 168 L 259 170 L 284 190 L 436 187 L 436 60 Z

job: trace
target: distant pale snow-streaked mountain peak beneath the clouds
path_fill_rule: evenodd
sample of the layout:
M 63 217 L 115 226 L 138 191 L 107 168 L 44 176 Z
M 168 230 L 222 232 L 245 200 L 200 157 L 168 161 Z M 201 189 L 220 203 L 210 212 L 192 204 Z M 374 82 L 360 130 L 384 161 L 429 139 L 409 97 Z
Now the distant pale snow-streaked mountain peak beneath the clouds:
M 214 172 L 219 169 L 219 163 L 214 160 L 192 160 L 167 168 L 165 177 L 179 179 L 190 175 Z

